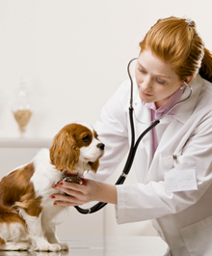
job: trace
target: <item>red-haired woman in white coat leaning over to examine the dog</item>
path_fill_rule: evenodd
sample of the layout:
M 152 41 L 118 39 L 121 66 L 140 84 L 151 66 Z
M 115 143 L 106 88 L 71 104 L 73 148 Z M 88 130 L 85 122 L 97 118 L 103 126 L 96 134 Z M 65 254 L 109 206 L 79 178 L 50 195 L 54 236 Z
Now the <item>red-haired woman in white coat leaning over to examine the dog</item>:
M 212 55 L 193 20 L 159 19 L 140 43 L 133 107 L 136 138 L 175 102 L 176 106 L 140 143 L 134 167 L 138 184 L 104 182 L 129 150 L 130 81 L 103 107 L 94 128 L 105 143 L 96 175 L 87 185 L 64 183 L 55 204 L 90 201 L 116 205 L 118 223 L 152 219 L 168 243 L 166 255 L 212 255 Z M 93 181 L 95 180 L 95 181 Z

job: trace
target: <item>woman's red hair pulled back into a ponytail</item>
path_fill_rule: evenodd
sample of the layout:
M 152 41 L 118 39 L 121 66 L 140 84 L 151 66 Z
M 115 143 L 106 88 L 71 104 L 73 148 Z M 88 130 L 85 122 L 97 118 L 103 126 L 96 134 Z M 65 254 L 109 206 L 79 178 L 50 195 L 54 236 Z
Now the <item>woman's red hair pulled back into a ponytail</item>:
M 204 47 L 194 21 L 174 16 L 159 19 L 140 46 L 141 52 L 150 49 L 162 61 L 170 63 L 181 81 L 199 72 L 212 82 L 212 54 Z

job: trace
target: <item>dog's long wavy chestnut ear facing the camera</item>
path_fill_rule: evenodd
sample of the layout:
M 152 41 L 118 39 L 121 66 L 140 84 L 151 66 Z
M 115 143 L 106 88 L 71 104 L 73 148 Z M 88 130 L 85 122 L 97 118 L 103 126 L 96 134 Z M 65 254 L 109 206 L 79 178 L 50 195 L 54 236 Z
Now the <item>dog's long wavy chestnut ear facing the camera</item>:
M 75 139 L 66 129 L 62 129 L 56 134 L 50 148 L 51 164 L 58 170 L 73 171 L 78 162 L 80 150 L 76 145 Z

